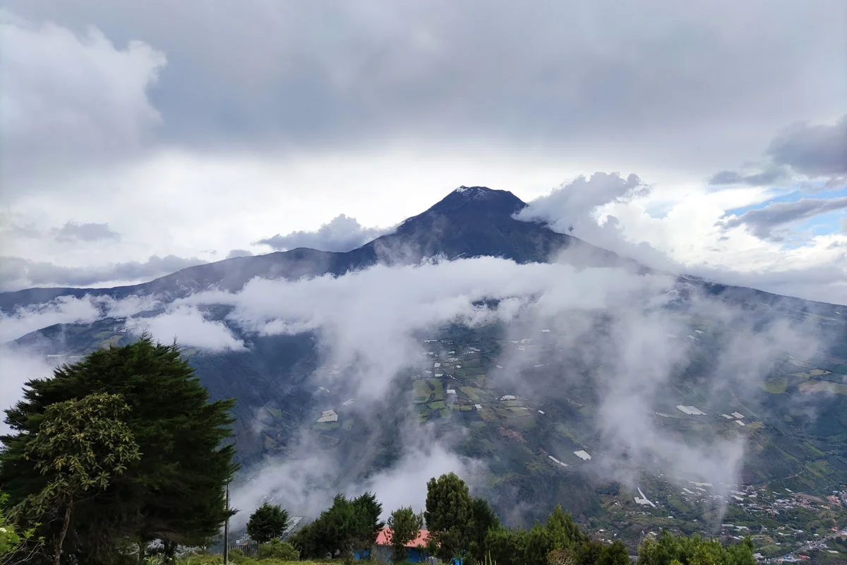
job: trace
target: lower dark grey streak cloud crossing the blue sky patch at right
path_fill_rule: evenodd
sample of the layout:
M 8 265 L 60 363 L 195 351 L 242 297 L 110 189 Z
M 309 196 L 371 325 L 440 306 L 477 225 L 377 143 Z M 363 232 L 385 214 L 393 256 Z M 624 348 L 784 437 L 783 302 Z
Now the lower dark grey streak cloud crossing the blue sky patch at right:
M 746 225 L 750 231 L 762 239 L 781 241 L 778 228 L 809 219 L 821 213 L 847 208 L 847 197 L 840 198 L 804 198 L 797 202 L 774 202 L 765 208 L 749 210 L 740 216 L 723 222 L 724 228 Z

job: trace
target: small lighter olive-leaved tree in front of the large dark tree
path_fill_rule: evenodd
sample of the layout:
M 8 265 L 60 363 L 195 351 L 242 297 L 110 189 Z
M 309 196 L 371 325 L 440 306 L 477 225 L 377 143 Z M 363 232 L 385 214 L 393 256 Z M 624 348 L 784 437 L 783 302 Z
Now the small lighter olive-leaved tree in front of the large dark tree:
M 54 565 L 62 556 L 74 502 L 106 490 L 114 477 L 141 457 L 123 419 L 129 412 L 123 396 L 104 393 L 51 404 L 25 448 L 25 457 L 35 462 L 47 485 L 27 496 L 21 507 L 38 516 L 54 510 L 64 513 L 53 543 Z

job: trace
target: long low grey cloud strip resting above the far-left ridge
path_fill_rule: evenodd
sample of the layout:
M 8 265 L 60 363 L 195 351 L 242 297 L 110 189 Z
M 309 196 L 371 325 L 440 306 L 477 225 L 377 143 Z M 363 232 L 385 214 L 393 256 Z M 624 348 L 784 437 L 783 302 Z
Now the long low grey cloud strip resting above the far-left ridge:
M 153 255 L 147 261 L 127 261 L 92 267 L 64 267 L 19 257 L 0 258 L 0 291 L 31 286 L 91 286 L 152 280 L 186 267 L 206 263 L 198 258 Z

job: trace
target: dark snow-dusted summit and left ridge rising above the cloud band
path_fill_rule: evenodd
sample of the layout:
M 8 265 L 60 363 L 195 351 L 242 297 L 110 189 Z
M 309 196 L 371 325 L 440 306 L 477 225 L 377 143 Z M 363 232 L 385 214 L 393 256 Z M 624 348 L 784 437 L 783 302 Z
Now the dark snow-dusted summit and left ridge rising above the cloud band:
M 376 263 L 418 263 L 428 257 L 490 256 L 532 263 L 548 261 L 563 249 L 579 247 L 584 250 L 580 257 L 590 264 L 613 265 L 623 261 L 612 252 L 590 246 L 571 235 L 556 233 L 544 224 L 512 218 L 526 206 L 509 191 L 462 186 L 426 212 L 407 219 L 395 233 L 383 235 L 349 252 L 298 248 L 197 265 L 141 285 L 4 292 L 0 293 L 0 309 L 8 312 L 57 296 L 91 294 L 123 298 L 157 294 L 175 297 L 213 286 L 236 291 L 254 277 L 296 280 L 303 276 L 340 275 Z

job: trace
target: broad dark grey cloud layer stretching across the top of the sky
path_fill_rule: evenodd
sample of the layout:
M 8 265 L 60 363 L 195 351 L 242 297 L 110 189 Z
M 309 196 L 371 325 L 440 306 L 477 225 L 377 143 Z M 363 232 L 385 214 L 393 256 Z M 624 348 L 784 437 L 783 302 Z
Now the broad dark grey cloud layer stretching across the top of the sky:
M 96 25 L 108 42 L 88 43 L 135 62 L 141 86 L 122 98 L 132 103 L 105 108 L 149 118 L 137 96 L 147 91 L 162 118 L 158 142 L 181 147 L 529 141 L 702 164 L 761 143 L 775 119 L 831 112 L 844 99 L 835 0 L 30 0 L 14 9 L 83 37 Z M 692 139 L 698 150 L 683 151 Z

